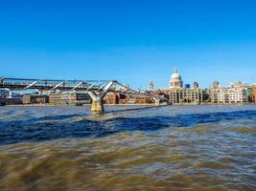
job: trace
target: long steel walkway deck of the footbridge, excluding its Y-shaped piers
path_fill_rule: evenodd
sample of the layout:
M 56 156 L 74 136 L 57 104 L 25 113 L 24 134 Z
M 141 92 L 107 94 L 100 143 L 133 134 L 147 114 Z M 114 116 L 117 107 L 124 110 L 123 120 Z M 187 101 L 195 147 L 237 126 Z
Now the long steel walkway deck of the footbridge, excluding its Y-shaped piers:
M 151 96 L 160 100 L 167 100 L 163 96 L 154 95 L 151 92 L 134 91 L 116 80 L 55 80 L 55 79 L 28 79 L 28 78 L 6 78 L 0 77 L 0 88 L 11 91 L 35 89 L 38 91 L 54 92 L 102 92 L 109 82 L 113 86 L 107 92 L 127 93 L 130 96 Z

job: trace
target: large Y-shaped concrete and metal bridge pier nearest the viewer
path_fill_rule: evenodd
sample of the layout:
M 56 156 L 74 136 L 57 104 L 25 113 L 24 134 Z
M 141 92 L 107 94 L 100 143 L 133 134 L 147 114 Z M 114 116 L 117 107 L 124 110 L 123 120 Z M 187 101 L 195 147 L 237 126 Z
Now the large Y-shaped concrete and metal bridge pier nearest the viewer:
M 115 81 L 110 81 L 105 84 L 102 90 L 90 91 L 88 90 L 88 95 L 92 98 L 91 112 L 92 113 L 104 113 L 104 97 L 109 89 L 112 87 Z

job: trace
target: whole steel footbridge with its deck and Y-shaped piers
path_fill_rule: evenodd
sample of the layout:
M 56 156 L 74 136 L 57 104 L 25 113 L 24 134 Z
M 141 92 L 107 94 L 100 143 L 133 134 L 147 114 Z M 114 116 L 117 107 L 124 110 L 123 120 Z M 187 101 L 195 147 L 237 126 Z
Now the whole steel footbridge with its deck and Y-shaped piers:
M 56 80 L 56 79 L 26 79 L 0 77 L 0 88 L 7 88 L 11 91 L 37 90 L 54 93 L 75 92 L 87 93 L 92 99 L 91 111 L 93 113 L 104 112 L 104 97 L 108 92 L 126 93 L 131 96 L 150 96 L 155 105 L 160 102 L 167 102 L 164 96 L 155 95 L 149 91 L 135 91 L 117 80 Z

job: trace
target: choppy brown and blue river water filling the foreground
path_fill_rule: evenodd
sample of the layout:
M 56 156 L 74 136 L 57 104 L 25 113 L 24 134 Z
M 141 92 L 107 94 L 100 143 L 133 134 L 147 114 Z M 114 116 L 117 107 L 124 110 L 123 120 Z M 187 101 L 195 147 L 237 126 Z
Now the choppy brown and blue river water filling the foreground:
M 256 190 L 256 106 L 1 107 L 0 190 Z

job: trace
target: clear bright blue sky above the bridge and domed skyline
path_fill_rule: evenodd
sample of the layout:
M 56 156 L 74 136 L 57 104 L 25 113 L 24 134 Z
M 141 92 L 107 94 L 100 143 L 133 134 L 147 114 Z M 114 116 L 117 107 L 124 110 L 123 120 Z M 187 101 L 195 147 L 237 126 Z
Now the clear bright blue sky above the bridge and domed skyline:
M 0 75 L 256 82 L 256 1 L 1 1 Z

